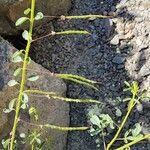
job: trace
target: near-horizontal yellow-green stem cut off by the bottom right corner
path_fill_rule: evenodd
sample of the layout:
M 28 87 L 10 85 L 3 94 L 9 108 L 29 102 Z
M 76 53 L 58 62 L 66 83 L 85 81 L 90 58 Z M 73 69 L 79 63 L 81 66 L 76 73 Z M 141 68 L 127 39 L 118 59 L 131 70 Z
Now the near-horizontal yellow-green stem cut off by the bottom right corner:
M 136 143 L 138 143 L 138 142 L 140 142 L 142 140 L 149 139 L 149 138 L 150 138 L 150 134 L 147 134 L 147 135 L 145 135 L 143 137 L 137 138 L 136 140 L 134 140 L 134 141 L 132 141 L 132 142 L 130 142 L 128 144 L 125 144 L 122 147 L 117 148 L 116 150 L 124 150 L 125 148 L 128 148 L 128 147 L 130 147 L 130 146 L 132 146 L 132 145 L 134 145 L 134 144 L 136 144 Z

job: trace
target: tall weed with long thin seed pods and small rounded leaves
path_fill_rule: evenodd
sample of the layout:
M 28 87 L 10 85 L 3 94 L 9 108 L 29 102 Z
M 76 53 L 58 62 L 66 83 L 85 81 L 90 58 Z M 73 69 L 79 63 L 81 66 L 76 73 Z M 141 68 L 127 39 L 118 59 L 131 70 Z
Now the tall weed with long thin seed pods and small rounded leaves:
M 31 44 L 33 42 L 41 40 L 41 39 L 46 38 L 46 37 L 50 37 L 50 36 L 60 36 L 60 35 L 68 35 L 68 34 L 79 34 L 79 35 L 90 34 L 87 31 L 78 31 L 78 30 L 68 30 L 68 31 L 62 31 L 62 32 L 52 31 L 43 37 L 33 39 L 32 34 L 33 34 L 33 28 L 34 28 L 34 22 L 35 21 L 41 20 L 45 17 L 55 18 L 54 16 L 44 16 L 42 12 L 38 12 L 35 15 L 35 3 L 36 3 L 36 0 L 31 0 L 31 8 L 27 8 L 24 11 L 25 16 L 19 18 L 16 21 L 16 26 L 20 26 L 25 22 L 29 22 L 30 25 L 29 25 L 29 31 L 25 30 L 22 33 L 22 37 L 27 41 L 26 49 L 17 51 L 12 56 L 12 62 L 13 63 L 22 63 L 22 68 L 17 68 L 14 71 L 14 78 L 17 79 L 18 76 L 21 76 L 21 80 L 13 79 L 13 80 L 8 82 L 8 85 L 10 87 L 13 87 L 16 85 L 20 86 L 20 89 L 18 92 L 19 93 L 18 97 L 11 100 L 8 108 L 4 109 L 5 113 L 10 113 L 12 111 L 15 112 L 15 118 L 14 118 L 13 128 L 12 128 L 12 131 L 10 133 L 10 138 L 8 138 L 6 140 L 2 140 L 2 144 L 3 144 L 4 149 L 9 149 L 9 150 L 17 149 L 18 143 L 17 143 L 17 138 L 16 138 L 16 131 L 17 131 L 17 127 L 18 127 L 19 122 L 24 122 L 24 123 L 28 124 L 29 126 L 38 127 L 41 130 L 43 128 L 51 128 L 53 130 L 60 130 L 60 131 L 75 131 L 75 130 L 87 130 L 89 128 L 89 127 L 60 127 L 60 126 L 55 126 L 55 125 L 51 125 L 51 124 L 33 124 L 30 122 L 26 122 L 24 120 L 21 120 L 20 119 L 20 110 L 21 109 L 28 110 L 29 115 L 31 117 L 33 117 L 35 119 L 35 121 L 38 120 L 38 118 L 40 117 L 40 116 L 38 116 L 36 108 L 29 105 L 29 97 L 28 97 L 29 94 L 34 94 L 34 95 L 38 94 L 38 95 L 42 95 L 43 97 L 46 97 L 46 98 L 52 97 L 54 100 L 57 99 L 57 100 L 66 101 L 66 102 L 99 103 L 96 100 L 89 100 L 89 99 L 88 100 L 81 100 L 81 99 L 71 99 L 71 98 L 60 97 L 55 92 L 51 92 L 51 91 L 49 91 L 49 92 L 40 91 L 38 89 L 25 90 L 26 82 L 37 82 L 39 79 L 38 74 L 33 74 L 32 76 L 27 76 L 28 66 L 31 63 L 31 59 L 29 57 L 29 52 L 30 52 Z M 30 16 L 30 17 L 28 17 L 28 16 Z M 59 19 L 61 19 L 61 20 L 90 19 L 90 18 L 108 18 L 108 17 L 107 16 L 101 16 L 101 15 L 61 16 L 61 17 L 59 17 Z M 90 87 L 90 88 L 97 90 L 97 88 L 95 87 L 95 84 L 97 82 L 91 81 L 91 80 L 86 79 L 84 77 L 80 77 L 80 76 L 72 75 L 72 74 L 53 74 L 53 75 L 58 77 L 58 78 L 73 81 L 75 83 L 82 84 L 84 86 L 87 86 L 87 87 Z M 25 135 L 25 133 L 21 133 L 20 137 L 22 139 L 24 139 L 25 143 L 29 143 L 32 147 L 32 150 L 33 150 L 33 149 L 39 149 L 39 147 L 41 147 L 41 145 L 43 145 L 42 141 L 40 140 L 41 134 L 42 134 L 41 132 L 34 130 L 28 136 Z

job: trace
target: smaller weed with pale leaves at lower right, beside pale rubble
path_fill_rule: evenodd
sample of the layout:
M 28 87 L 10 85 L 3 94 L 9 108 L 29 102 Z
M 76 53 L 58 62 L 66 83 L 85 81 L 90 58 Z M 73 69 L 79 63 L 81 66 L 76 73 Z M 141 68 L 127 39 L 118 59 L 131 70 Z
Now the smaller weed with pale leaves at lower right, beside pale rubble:
M 117 132 L 116 132 L 115 136 L 113 137 L 113 139 L 107 145 L 104 143 L 105 150 L 110 150 L 112 145 L 118 140 L 124 141 L 125 145 L 121 146 L 119 148 L 116 148 L 116 150 L 124 150 L 124 149 L 130 149 L 130 146 L 132 146 L 142 140 L 150 138 L 150 134 L 147 134 L 147 135 L 141 134 L 142 126 L 140 125 L 140 123 L 136 123 L 133 129 L 129 129 L 128 131 L 126 131 L 124 134 L 124 138 L 119 138 L 119 135 L 120 135 L 123 127 L 125 126 L 127 119 L 129 119 L 129 115 L 131 114 L 131 111 L 133 110 L 133 108 L 135 106 L 139 106 L 139 104 L 141 105 L 141 102 L 143 100 L 145 100 L 145 98 L 148 98 L 145 96 L 146 90 L 140 91 L 137 82 L 134 81 L 131 84 L 129 84 L 128 82 L 125 82 L 125 84 L 126 84 L 127 88 L 124 91 L 130 91 L 130 93 L 132 95 L 131 97 L 125 98 L 123 100 L 124 102 L 129 101 L 128 107 L 127 107 L 127 113 L 126 113 L 123 121 L 121 122 L 120 126 L 118 127 Z M 118 111 L 118 109 L 117 109 L 117 111 Z M 120 114 L 120 111 L 119 111 L 119 114 Z M 104 118 L 100 117 L 100 116 L 103 116 Z M 90 122 L 92 124 L 90 134 L 92 133 L 91 134 L 92 136 L 102 133 L 102 131 L 104 133 L 104 129 L 106 129 L 108 127 L 111 129 L 115 129 L 113 126 L 113 120 L 111 119 L 110 116 L 108 116 L 106 114 L 92 115 L 92 116 L 90 116 Z M 94 128 L 95 125 L 98 128 L 95 129 Z M 99 135 L 100 135 L 100 137 L 104 136 L 104 134 L 103 135 L 99 134 Z M 103 142 L 106 142 L 106 141 L 103 141 Z

